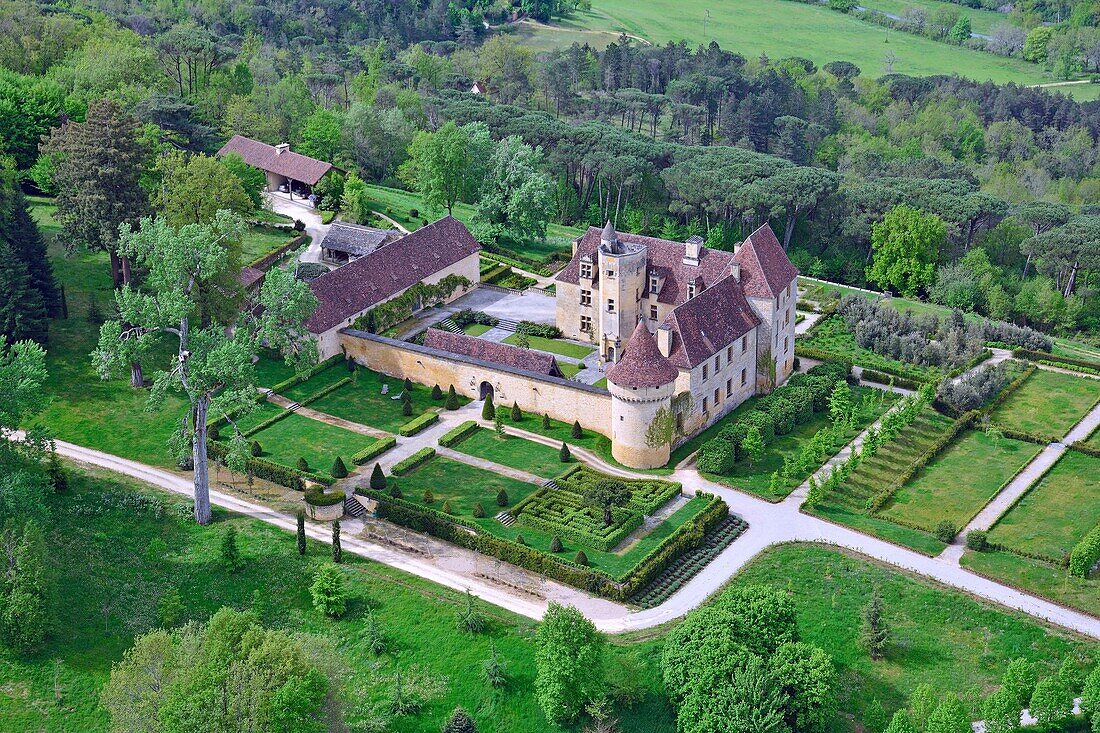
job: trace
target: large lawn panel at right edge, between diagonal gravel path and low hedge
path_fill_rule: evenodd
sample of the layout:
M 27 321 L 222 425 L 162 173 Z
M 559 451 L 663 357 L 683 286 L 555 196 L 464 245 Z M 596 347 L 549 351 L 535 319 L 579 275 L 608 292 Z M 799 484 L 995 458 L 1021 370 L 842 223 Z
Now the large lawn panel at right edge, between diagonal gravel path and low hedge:
M 1055 560 L 1100 522 L 1100 458 L 1067 450 L 997 521 L 990 541 Z

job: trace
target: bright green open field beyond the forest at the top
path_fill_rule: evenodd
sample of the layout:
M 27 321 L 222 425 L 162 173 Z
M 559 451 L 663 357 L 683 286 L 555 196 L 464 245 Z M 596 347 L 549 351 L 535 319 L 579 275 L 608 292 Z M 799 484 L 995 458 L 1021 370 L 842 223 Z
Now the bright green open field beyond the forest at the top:
M 873 7 L 873 3 L 872 3 Z M 913 76 L 961 74 L 979 81 L 1040 84 L 1049 80 L 1026 62 L 1002 58 L 939 43 L 901 31 L 872 25 L 827 8 L 783 0 L 741 0 L 734 9 L 719 9 L 702 0 L 637 3 L 631 0 L 594 0 L 591 12 L 578 12 L 568 29 L 626 31 L 654 45 L 686 40 L 691 47 L 717 41 L 723 48 L 747 57 L 767 53 L 772 59 L 804 56 L 822 66 L 848 61 L 864 75 L 887 73 L 884 57 L 891 52 L 893 72 Z M 705 19 L 704 11 L 712 11 Z M 556 39 L 540 34 L 540 43 Z M 561 45 L 572 40 L 565 36 Z

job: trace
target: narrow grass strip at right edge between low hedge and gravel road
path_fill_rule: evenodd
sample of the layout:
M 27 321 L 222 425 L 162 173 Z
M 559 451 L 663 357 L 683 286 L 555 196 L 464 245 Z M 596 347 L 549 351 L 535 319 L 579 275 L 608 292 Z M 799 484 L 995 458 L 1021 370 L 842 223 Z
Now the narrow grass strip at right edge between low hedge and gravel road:
M 1074 578 L 1060 566 L 1012 553 L 968 550 L 959 562 L 1002 583 L 1100 616 L 1100 576 Z

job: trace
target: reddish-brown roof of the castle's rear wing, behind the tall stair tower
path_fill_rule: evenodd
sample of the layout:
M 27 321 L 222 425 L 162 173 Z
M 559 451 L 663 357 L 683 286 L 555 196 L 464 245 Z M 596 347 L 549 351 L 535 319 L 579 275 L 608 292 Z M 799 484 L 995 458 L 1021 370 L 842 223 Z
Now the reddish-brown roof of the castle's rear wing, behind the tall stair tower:
M 556 280 L 562 283 L 580 283 L 581 264 L 580 259 L 584 255 L 592 258 L 596 262 L 596 249 L 600 247 L 600 238 L 603 231 L 600 227 L 590 227 L 581 237 L 574 256 L 565 269 L 562 270 Z M 680 305 L 688 299 L 688 284 L 696 278 L 702 278 L 703 285 L 711 287 L 719 280 L 729 274 L 729 263 L 734 260 L 733 252 L 711 250 L 705 247 L 700 248 L 698 265 L 685 265 L 683 242 L 670 242 L 656 237 L 642 237 L 641 234 L 629 234 L 618 232 L 618 241 L 631 244 L 645 244 L 646 258 L 649 263 L 647 282 L 654 272 L 663 278 L 661 292 L 658 293 L 657 302 L 668 305 Z M 598 282 L 598 273 L 593 269 Z

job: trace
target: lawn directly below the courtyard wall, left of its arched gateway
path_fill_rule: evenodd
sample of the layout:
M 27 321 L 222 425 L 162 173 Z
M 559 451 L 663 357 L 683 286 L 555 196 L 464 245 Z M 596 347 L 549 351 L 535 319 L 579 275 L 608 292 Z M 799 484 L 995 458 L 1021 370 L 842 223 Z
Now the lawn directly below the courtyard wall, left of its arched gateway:
M 345 376 L 348 376 L 348 371 L 343 366 L 334 366 L 321 372 L 321 374 L 309 380 L 309 382 L 290 390 L 289 392 L 294 394 L 287 394 L 287 396 L 298 400 L 309 394 L 315 394 L 327 384 L 338 382 Z M 324 380 L 317 382 L 315 386 L 310 386 L 314 380 L 320 378 L 324 378 Z M 382 394 L 383 384 L 389 385 L 389 394 Z M 447 394 L 448 386 L 450 385 L 440 385 L 444 395 Z M 392 400 L 392 397 L 400 394 L 404 389 L 402 380 L 360 368 L 359 376 L 355 378 L 354 382 L 334 392 L 330 392 L 317 402 L 311 402 L 309 407 L 318 412 L 334 415 L 336 417 L 342 417 L 345 420 L 369 425 L 380 430 L 397 433 L 400 426 L 414 419 L 417 415 L 429 409 L 442 408 L 443 406 L 442 400 L 437 402 L 431 398 L 431 387 L 422 384 L 414 384 L 411 390 L 413 415 L 404 415 L 402 414 L 402 401 Z M 469 401 L 460 397 L 460 402 L 464 404 Z

